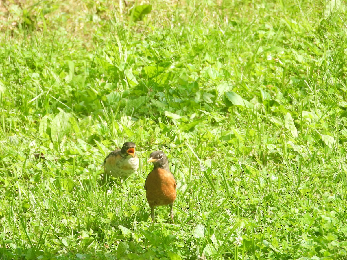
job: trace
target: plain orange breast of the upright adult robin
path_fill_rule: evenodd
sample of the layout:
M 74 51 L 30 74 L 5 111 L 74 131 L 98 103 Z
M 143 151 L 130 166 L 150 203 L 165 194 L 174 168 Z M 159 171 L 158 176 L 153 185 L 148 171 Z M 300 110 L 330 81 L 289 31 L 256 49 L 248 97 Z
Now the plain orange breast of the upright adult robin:
M 172 173 L 155 169 L 147 176 L 146 198 L 150 206 L 168 205 L 176 199 L 176 181 Z

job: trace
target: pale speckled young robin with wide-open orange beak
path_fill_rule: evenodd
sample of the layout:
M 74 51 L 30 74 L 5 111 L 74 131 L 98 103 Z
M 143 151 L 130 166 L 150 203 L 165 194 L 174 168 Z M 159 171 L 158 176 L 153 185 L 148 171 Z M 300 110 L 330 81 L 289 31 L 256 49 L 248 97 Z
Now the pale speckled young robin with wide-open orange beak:
M 136 145 L 133 142 L 126 142 L 123 144 L 122 149 L 111 151 L 106 156 L 102 164 L 104 166 L 102 183 L 104 183 L 105 178 L 110 176 L 125 180 L 137 170 L 138 157 L 135 153 L 135 147 Z

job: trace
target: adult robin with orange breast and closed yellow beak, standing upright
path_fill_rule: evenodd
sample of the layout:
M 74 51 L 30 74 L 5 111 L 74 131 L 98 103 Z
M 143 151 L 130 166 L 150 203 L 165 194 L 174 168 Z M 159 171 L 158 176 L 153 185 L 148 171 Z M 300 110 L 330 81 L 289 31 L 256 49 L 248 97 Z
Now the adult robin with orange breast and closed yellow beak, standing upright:
M 176 199 L 177 184 L 170 172 L 168 158 L 163 151 L 151 153 L 147 163 L 153 163 L 153 170 L 145 181 L 147 202 L 151 207 L 152 223 L 154 222 L 154 207 L 169 205 L 172 223 L 174 222 L 174 201 Z

